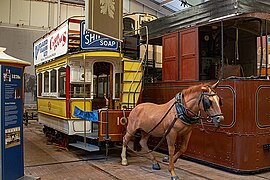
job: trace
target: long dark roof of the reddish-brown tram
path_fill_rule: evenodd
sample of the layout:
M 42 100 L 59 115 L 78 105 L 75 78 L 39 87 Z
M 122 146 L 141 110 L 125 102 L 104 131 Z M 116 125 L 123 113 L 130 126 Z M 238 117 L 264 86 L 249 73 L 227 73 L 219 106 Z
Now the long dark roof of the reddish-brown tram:
M 154 21 L 145 22 L 143 26 L 148 27 L 149 39 L 155 39 L 184 28 L 219 22 L 245 14 L 270 20 L 269 10 L 269 0 L 210 0 Z

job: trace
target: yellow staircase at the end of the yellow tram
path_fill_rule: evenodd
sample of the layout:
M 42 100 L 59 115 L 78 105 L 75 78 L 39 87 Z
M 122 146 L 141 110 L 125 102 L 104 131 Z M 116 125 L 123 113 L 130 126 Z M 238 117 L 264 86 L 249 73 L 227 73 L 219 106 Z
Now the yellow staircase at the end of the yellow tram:
M 142 91 L 143 60 L 124 60 L 122 109 L 133 109 Z

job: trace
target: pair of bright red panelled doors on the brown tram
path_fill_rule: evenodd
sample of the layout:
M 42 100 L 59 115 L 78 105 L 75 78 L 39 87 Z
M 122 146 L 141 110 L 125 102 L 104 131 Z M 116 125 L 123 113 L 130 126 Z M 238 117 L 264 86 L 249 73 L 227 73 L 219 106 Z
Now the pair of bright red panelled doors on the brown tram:
M 199 80 L 198 28 L 163 37 L 163 81 Z

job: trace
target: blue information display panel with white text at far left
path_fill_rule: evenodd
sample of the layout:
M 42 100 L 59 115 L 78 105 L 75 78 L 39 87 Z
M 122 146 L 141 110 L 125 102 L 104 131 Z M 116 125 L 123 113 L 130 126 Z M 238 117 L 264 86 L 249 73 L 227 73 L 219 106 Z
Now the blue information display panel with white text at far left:
M 1 65 L 1 170 L 2 179 L 24 175 L 23 68 Z

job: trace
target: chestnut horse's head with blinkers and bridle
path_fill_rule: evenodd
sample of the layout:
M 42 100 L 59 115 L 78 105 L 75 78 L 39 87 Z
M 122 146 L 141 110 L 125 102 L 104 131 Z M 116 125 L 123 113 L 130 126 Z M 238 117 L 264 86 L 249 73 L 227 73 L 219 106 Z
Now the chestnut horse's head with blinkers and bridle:
M 199 106 L 203 108 L 205 113 L 213 120 L 216 127 L 219 127 L 220 122 L 224 120 L 220 107 L 222 100 L 215 92 L 218 83 L 212 86 L 202 86 L 202 92 L 199 100 Z

